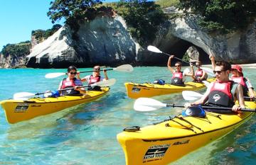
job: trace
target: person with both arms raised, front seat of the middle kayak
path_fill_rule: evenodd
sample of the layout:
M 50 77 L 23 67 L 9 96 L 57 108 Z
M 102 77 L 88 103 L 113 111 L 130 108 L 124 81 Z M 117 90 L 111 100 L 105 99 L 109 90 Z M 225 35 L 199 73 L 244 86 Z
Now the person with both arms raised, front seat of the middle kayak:
M 173 74 L 173 76 L 171 77 L 171 84 L 178 85 L 178 86 L 184 86 L 185 77 L 194 75 L 193 65 L 191 64 L 191 72 L 188 72 L 188 73 L 181 72 L 181 62 L 176 62 L 174 65 L 175 69 L 172 69 L 171 68 L 171 59 L 173 59 L 173 58 L 174 58 L 174 55 L 171 55 L 167 62 L 167 67 Z

